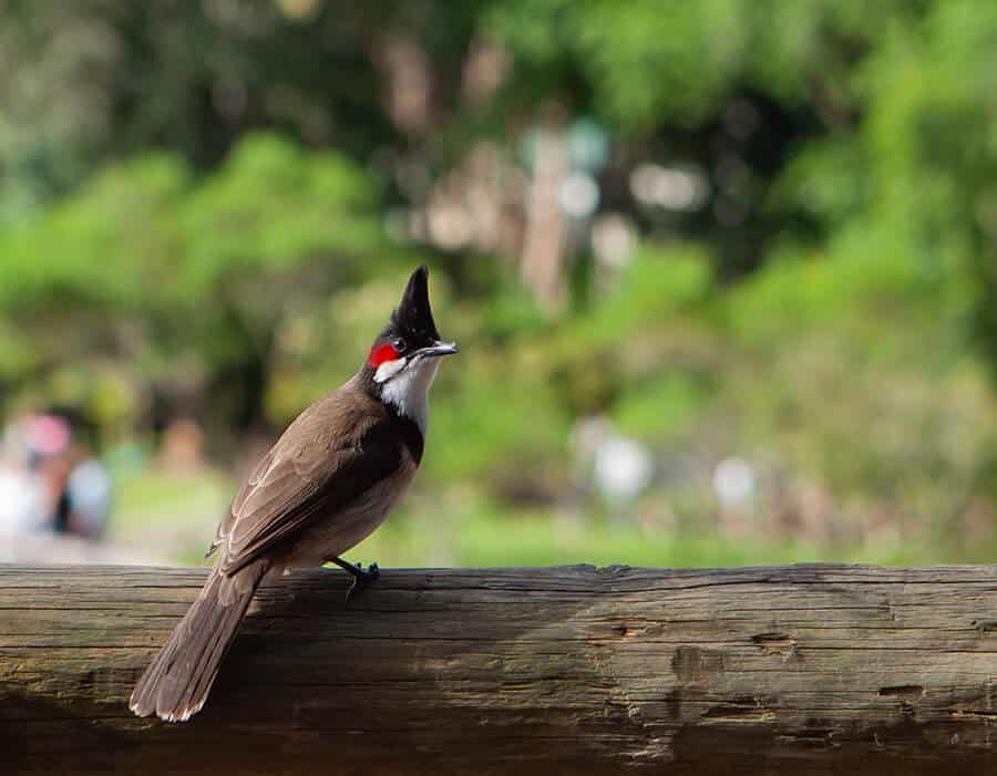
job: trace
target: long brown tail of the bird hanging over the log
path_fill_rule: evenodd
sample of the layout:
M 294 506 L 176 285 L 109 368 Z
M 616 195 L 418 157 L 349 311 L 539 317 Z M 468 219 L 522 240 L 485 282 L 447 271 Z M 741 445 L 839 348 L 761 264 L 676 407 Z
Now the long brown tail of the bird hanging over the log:
M 230 577 L 220 566 L 132 691 L 129 707 L 138 716 L 155 712 L 166 722 L 186 722 L 207 700 L 269 563 L 257 560 Z

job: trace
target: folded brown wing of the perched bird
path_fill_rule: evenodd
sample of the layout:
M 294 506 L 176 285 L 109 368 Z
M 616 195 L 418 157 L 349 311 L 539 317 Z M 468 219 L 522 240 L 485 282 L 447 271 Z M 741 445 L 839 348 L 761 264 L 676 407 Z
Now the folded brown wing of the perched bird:
M 337 392 L 301 413 L 218 526 L 213 549 L 224 547 L 224 573 L 297 534 L 312 515 L 347 506 L 398 468 L 401 446 L 383 433 L 381 411 L 379 402 Z

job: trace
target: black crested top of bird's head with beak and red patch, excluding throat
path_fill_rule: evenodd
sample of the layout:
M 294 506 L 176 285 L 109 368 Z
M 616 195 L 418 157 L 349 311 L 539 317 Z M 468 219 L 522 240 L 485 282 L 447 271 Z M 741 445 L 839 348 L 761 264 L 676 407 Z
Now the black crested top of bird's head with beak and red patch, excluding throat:
M 378 372 L 379 368 L 390 362 L 398 369 L 383 372 L 393 375 L 419 361 L 456 353 L 456 345 L 443 342 L 436 331 L 429 303 L 428 278 L 429 270 L 425 267 L 412 272 L 401 302 L 370 349 L 367 358 L 369 369 Z

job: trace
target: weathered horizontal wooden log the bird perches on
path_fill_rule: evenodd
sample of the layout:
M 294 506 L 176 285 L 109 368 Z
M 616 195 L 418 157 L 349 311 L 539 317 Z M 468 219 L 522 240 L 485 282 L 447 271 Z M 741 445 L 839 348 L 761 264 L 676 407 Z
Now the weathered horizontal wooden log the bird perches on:
M 997 772 L 993 567 L 296 572 L 138 720 L 205 575 L 0 567 L 0 773 Z

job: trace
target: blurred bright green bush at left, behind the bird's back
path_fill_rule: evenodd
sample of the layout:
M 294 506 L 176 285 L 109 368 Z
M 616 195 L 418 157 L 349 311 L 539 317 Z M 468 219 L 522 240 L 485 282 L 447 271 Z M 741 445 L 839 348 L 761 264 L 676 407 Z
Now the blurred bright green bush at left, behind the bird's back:
M 3 307 L 23 324 L 0 346 L 14 403 L 41 390 L 97 412 L 100 386 L 124 372 L 137 392 L 204 381 L 207 401 L 230 408 L 218 421 L 243 425 L 265 412 L 286 329 L 392 260 L 370 177 L 271 135 L 247 135 L 204 177 L 163 153 L 111 165 L 11 225 L 0 255 Z M 74 389 L 50 384 L 68 372 Z

